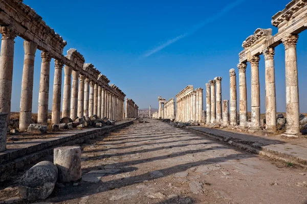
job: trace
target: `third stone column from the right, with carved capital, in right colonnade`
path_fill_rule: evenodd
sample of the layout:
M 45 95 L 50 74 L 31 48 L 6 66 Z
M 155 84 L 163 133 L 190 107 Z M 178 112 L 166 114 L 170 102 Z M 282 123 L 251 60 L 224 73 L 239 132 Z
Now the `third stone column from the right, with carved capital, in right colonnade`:
M 252 122 L 251 130 L 261 130 L 260 128 L 260 86 L 259 86 L 259 56 L 252 56 L 248 59 L 251 64 L 251 104 Z

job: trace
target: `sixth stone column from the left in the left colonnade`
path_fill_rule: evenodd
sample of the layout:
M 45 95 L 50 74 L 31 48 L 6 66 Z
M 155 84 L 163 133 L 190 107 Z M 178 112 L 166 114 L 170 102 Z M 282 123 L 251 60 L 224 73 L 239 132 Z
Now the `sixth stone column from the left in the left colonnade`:
M 79 86 L 79 71 L 73 70 L 73 85 L 71 99 L 71 115 L 70 118 L 75 120 L 78 116 L 78 86 Z

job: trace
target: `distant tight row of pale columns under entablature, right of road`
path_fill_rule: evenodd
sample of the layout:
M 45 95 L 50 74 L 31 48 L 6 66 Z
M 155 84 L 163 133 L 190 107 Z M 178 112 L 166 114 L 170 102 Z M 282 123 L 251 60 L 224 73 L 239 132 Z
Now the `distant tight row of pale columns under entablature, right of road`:
M 203 120 L 203 89 L 198 88 L 177 100 L 177 120 L 201 122 Z

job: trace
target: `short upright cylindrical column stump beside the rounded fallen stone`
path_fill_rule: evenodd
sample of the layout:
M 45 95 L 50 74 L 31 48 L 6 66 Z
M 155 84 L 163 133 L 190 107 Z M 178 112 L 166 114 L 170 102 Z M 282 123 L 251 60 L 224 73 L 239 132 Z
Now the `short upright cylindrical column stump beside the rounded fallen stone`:
M 79 146 L 57 147 L 53 152 L 53 163 L 59 170 L 59 182 L 74 182 L 81 179 L 81 148 Z

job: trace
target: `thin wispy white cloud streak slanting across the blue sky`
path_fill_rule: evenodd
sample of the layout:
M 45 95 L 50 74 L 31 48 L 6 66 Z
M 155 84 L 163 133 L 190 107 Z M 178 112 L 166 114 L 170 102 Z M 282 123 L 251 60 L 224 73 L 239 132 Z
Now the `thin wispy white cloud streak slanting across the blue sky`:
M 192 35 L 193 33 L 195 33 L 196 31 L 200 30 L 201 28 L 203 28 L 206 24 L 211 23 L 223 16 L 225 16 L 227 14 L 227 12 L 229 12 L 231 9 L 233 9 L 234 7 L 238 6 L 239 4 L 243 3 L 246 0 L 236 0 L 232 3 L 230 3 L 229 5 L 227 5 L 226 7 L 224 7 L 221 11 L 215 13 L 214 15 L 210 16 L 209 18 L 205 19 L 204 21 L 195 24 L 190 30 L 188 30 L 187 32 L 185 32 L 182 35 L 179 35 L 175 38 L 172 38 L 170 40 L 167 40 L 165 43 L 149 50 L 148 52 L 146 52 L 143 57 L 147 58 L 157 52 L 159 52 L 161 49 L 164 49 L 165 47 L 171 45 L 174 42 L 177 42 L 178 40 L 185 38 L 189 35 Z

